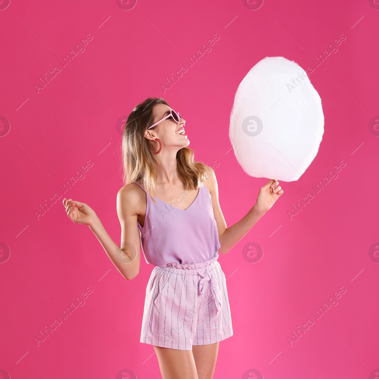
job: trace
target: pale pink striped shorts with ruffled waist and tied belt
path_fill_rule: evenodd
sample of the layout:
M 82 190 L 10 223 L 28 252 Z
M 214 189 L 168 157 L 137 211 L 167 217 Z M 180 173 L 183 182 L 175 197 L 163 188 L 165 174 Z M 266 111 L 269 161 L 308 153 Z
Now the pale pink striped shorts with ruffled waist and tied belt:
M 233 335 L 226 278 L 217 261 L 156 266 L 146 288 L 142 343 L 177 350 Z

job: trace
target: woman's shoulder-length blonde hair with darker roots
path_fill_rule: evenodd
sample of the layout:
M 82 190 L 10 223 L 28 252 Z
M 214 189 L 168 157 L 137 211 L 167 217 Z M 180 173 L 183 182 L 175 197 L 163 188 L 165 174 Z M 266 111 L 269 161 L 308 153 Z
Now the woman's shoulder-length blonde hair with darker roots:
M 144 137 L 144 133 L 154 123 L 155 104 L 169 106 L 161 97 L 148 97 L 137 104 L 129 114 L 122 135 L 124 185 L 138 182 L 153 201 L 155 200 L 152 194 L 157 189 L 158 180 L 157 158 L 150 149 L 149 140 Z M 186 190 L 200 188 L 201 183 L 209 177 L 208 166 L 202 162 L 195 162 L 194 155 L 194 151 L 189 147 L 182 147 L 176 154 L 177 174 Z

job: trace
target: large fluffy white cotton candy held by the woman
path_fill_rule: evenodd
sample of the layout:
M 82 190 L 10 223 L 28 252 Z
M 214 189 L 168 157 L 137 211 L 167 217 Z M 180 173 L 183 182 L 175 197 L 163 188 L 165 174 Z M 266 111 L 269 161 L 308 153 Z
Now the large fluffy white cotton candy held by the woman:
M 229 137 L 247 174 L 298 180 L 315 158 L 323 133 L 321 99 L 298 64 L 266 57 L 238 86 Z

